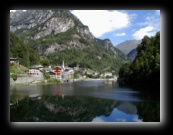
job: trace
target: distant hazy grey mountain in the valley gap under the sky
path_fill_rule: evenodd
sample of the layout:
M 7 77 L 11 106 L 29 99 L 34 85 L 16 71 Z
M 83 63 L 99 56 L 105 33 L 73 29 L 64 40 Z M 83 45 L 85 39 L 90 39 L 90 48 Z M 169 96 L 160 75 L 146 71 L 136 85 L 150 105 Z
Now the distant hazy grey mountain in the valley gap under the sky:
M 125 55 L 128 55 L 128 53 L 130 53 L 130 51 L 135 49 L 140 43 L 141 43 L 141 40 L 126 40 L 116 45 L 116 48 L 121 50 Z

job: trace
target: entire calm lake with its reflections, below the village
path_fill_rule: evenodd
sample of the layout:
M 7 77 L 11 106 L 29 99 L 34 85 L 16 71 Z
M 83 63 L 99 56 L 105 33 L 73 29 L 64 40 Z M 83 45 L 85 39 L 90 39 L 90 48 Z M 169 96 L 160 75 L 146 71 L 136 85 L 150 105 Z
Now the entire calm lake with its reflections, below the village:
M 10 89 L 11 122 L 160 122 L 160 100 L 117 82 L 87 80 Z

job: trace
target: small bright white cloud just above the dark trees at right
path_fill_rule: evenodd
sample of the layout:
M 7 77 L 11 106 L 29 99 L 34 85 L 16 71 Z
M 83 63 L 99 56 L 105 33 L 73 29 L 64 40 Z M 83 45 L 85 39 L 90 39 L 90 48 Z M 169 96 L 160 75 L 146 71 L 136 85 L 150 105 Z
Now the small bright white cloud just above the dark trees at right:
M 136 39 L 136 40 L 140 40 L 142 39 L 145 35 L 147 36 L 154 36 L 156 34 L 154 30 L 154 27 L 152 26 L 147 26 L 144 28 L 139 29 L 138 31 L 136 31 L 132 36 Z

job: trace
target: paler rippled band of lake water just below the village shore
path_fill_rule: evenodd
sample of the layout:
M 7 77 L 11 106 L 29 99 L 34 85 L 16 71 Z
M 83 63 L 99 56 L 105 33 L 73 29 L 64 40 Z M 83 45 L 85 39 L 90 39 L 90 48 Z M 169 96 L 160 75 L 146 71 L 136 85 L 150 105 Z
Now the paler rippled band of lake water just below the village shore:
M 11 93 L 13 93 L 11 89 Z M 81 81 L 59 85 L 21 86 L 17 88 L 18 95 L 79 95 L 91 96 L 118 101 L 143 101 L 138 91 L 120 88 L 117 83 L 107 81 Z

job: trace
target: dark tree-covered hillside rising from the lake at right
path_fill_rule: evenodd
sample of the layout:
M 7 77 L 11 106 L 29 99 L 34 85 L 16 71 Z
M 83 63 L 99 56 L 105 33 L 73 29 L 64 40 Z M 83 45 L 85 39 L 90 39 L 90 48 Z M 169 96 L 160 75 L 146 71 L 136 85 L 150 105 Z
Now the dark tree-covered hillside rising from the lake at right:
M 119 71 L 120 84 L 160 88 L 160 32 L 154 37 L 144 36 L 137 47 L 132 63 L 123 64 Z

